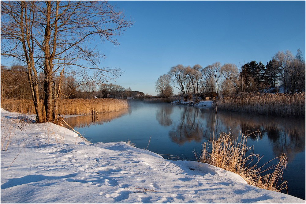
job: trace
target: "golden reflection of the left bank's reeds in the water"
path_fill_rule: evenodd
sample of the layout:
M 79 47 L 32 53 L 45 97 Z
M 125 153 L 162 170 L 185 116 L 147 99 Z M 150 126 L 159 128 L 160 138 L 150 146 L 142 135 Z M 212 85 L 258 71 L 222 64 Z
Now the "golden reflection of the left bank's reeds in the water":
M 108 123 L 113 119 L 119 118 L 127 113 L 130 113 L 131 110 L 129 108 L 121 109 L 120 111 L 113 113 L 99 113 L 95 117 L 92 115 L 83 115 L 78 117 L 67 118 L 65 121 L 72 128 L 80 128 L 80 127 L 90 127 L 93 124 L 102 125 L 103 123 Z

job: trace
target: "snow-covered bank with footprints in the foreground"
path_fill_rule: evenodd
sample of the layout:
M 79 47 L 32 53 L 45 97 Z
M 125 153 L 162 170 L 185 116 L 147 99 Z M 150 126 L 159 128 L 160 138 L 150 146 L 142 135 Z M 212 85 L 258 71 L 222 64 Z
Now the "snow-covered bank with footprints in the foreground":
M 195 161 L 95 143 L 1 109 L 1 203 L 305 203 Z M 132 141 L 133 142 L 133 141 Z

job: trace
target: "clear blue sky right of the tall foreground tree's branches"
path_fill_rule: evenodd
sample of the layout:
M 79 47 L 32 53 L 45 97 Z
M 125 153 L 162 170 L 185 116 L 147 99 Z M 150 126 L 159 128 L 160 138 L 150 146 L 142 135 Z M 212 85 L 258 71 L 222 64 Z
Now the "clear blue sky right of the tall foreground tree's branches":
M 172 66 L 267 64 L 278 51 L 305 59 L 305 1 L 109 1 L 134 24 L 119 46 L 98 44 L 101 66 L 124 71 L 114 84 L 156 95 Z M 177 90 L 174 91 L 177 94 Z

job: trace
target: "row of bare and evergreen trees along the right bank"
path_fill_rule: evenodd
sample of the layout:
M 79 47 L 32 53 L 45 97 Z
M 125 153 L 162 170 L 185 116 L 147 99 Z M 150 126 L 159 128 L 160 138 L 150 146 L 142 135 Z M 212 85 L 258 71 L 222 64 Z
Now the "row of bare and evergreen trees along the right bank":
M 305 92 L 305 60 L 300 49 L 293 56 L 290 51 L 277 52 L 264 65 L 251 61 L 238 69 L 235 64 L 215 62 L 206 67 L 177 65 L 155 82 L 161 97 L 173 95 L 173 88 L 185 101 L 200 99 L 207 93 L 229 96 L 234 93 L 264 92 L 282 85 L 284 92 Z M 275 91 L 275 90 L 272 90 Z M 205 94 L 204 94 L 205 93 Z

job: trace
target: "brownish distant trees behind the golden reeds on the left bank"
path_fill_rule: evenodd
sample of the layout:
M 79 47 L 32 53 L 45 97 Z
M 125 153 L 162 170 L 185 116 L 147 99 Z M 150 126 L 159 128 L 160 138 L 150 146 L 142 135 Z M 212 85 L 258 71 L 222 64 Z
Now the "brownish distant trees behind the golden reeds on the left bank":
M 59 80 L 59 79 L 55 79 Z M 43 94 L 43 74 L 38 75 L 40 98 Z M 86 75 L 83 80 L 77 81 L 73 75 L 62 76 L 61 98 L 127 98 L 144 96 L 143 92 L 132 91 L 115 84 L 101 84 L 96 88 L 96 81 L 88 80 Z M 10 67 L 1 65 L 1 102 L 3 99 L 32 99 L 31 89 L 28 81 L 27 68 L 20 64 L 13 64 Z

